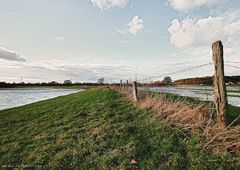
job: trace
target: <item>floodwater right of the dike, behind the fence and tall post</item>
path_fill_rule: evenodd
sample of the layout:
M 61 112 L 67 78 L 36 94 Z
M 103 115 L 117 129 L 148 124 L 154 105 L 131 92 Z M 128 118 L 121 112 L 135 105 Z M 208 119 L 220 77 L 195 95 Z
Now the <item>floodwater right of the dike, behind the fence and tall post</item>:
M 154 87 L 150 91 L 171 93 L 180 96 L 195 97 L 204 101 L 213 100 L 213 87 L 211 86 L 177 86 Z M 240 107 L 240 87 L 227 87 L 228 103 Z

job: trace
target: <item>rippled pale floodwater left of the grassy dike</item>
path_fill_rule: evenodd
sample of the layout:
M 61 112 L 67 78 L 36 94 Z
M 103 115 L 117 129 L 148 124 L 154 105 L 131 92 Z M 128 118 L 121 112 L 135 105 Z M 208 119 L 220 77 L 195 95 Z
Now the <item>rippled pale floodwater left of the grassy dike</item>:
M 64 96 L 79 91 L 82 90 L 50 88 L 0 89 L 0 110 Z

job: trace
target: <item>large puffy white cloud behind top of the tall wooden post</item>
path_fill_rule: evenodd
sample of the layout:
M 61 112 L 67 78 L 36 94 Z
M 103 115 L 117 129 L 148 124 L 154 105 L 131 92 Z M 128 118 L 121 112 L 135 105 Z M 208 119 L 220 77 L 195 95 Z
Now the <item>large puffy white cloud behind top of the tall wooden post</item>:
M 240 39 L 240 15 L 231 12 L 218 17 L 174 19 L 168 31 L 171 44 L 180 49 L 210 47 L 216 40 L 222 40 L 231 48 L 233 42 Z

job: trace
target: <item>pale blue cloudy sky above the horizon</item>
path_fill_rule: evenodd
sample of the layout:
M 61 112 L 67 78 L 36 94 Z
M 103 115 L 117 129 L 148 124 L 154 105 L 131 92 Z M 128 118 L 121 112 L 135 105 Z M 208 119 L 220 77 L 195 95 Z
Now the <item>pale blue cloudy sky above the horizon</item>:
M 0 81 L 211 76 L 182 70 L 212 63 L 217 40 L 240 73 L 240 0 L 0 0 L 0 23 Z

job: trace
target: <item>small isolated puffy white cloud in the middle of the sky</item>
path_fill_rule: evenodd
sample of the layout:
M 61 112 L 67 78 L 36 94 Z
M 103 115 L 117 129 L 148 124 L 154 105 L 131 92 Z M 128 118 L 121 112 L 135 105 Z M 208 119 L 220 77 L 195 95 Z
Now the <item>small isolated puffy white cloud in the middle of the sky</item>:
M 133 35 L 137 35 L 144 28 L 144 21 L 138 16 L 134 16 L 127 26 L 128 32 Z

